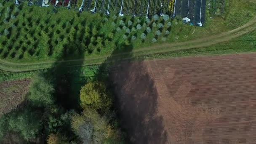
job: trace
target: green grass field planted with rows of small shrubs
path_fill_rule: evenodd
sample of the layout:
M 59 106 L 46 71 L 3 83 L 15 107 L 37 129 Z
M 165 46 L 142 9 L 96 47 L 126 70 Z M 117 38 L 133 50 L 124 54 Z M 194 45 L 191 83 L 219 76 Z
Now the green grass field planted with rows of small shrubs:
M 1 80 L 31 77 L 31 70 L 50 68 L 55 61 L 60 60 L 70 60 L 65 62 L 65 66 L 75 67 L 101 64 L 108 56 L 116 60 L 131 58 L 130 55 L 125 56 L 127 53 L 133 54 L 132 59 L 152 59 L 253 52 L 255 44 L 250 40 L 255 37 L 255 32 L 231 42 L 203 48 L 177 51 L 180 49 L 168 46 L 144 51 L 144 48 L 162 43 L 172 45 L 229 31 L 242 26 L 255 16 L 256 3 L 249 0 L 225 0 L 225 4 L 225 13 L 216 15 L 213 19 L 209 15 L 204 27 L 195 27 L 183 24 L 177 20 L 179 18 L 120 18 L 87 11 L 77 13 L 66 8 L 56 10 L 52 7 L 29 7 L 26 3 L 17 8 L 13 3 L 3 2 L 0 5 L 0 24 L 3 24 L 0 27 L 0 69 L 21 73 L 2 71 Z M 157 34 L 158 30 L 160 35 Z M 165 35 L 167 30 L 170 34 Z M 145 39 L 141 39 L 142 33 L 146 34 Z M 153 42 L 153 38 L 156 42 Z M 116 56 L 113 55 L 114 50 Z

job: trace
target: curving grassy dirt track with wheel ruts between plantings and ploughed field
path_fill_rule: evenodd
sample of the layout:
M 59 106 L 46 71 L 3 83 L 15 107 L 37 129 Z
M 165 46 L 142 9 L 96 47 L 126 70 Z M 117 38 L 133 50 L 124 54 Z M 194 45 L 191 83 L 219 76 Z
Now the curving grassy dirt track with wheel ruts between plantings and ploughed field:
M 178 50 L 184 50 L 184 49 L 190 49 L 190 48 L 201 48 L 201 47 L 207 47 L 210 45 L 214 45 L 217 43 L 222 43 L 226 42 L 229 40 L 232 40 L 236 37 L 240 37 L 241 35 L 244 35 L 248 32 L 251 32 L 256 29 L 256 16 L 249 21 L 248 23 L 244 24 L 241 27 L 238 27 L 236 29 L 233 29 L 228 32 L 223 32 L 218 35 L 213 35 L 210 37 L 203 37 L 203 38 L 198 38 L 196 40 L 189 40 L 186 42 L 178 42 L 178 43 L 163 43 L 163 44 L 158 44 L 146 48 L 140 48 L 137 50 L 133 50 L 132 52 L 136 55 L 136 53 L 139 52 L 144 52 L 142 54 L 138 54 L 136 56 L 143 56 L 143 55 L 150 55 L 150 54 L 155 54 L 155 53 L 165 53 L 165 52 L 170 52 L 170 51 L 178 51 Z M 167 48 L 167 49 L 166 49 Z M 155 51 L 157 50 L 157 51 Z M 147 52 L 149 51 L 149 52 Z M 118 53 L 113 56 L 123 56 L 128 53 Z M 107 58 L 108 56 L 99 56 L 99 57 L 91 57 L 91 58 L 86 58 L 86 59 L 72 59 L 72 60 L 62 60 L 62 61 L 45 61 L 45 62 L 36 62 L 36 63 L 13 63 L 9 61 L 5 61 L 0 59 L 0 69 L 3 69 L 5 71 L 12 71 L 12 72 L 22 72 L 22 71 L 29 71 L 29 70 L 37 70 L 37 69 L 45 69 L 49 68 L 50 66 L 45 66 L 37 69 L 19 69 L 19 68 L 8 68 L 8 66 L 16 66 L 16 67 L 24 67 L 24 66 L 35 66 L 39 64 L 53 64 L 55 62 L 59 63 L 69 63 L 69 62 L 76 62 L 76 61 L 86 61 L 86 60 L 97 60 L 97 59 L 104 59 Z M 74 66 L 85 66 L 85 65 L 90 65 L 90 64 L 100 64 L 100 63 L 88 63 L 88 64 L 82 64 L 82 65 L 74 65 Z

